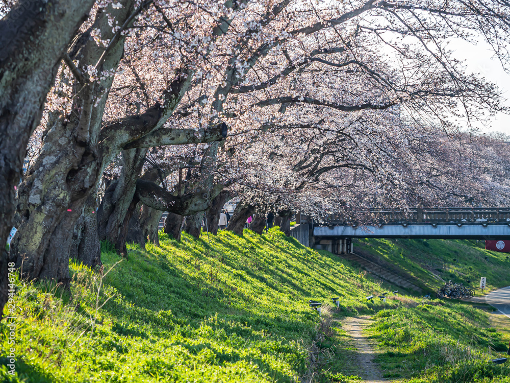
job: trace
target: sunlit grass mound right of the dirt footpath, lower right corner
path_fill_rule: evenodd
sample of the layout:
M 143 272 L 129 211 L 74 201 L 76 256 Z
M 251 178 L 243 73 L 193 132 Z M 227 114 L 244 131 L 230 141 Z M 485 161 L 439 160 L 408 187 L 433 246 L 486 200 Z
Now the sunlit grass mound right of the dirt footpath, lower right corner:
M 384 376 L 409 383 L 510 383 L 508 334 L 491 328 L 489 314 L 466 303 L 407 299 L 381 310 L 369 329 Z

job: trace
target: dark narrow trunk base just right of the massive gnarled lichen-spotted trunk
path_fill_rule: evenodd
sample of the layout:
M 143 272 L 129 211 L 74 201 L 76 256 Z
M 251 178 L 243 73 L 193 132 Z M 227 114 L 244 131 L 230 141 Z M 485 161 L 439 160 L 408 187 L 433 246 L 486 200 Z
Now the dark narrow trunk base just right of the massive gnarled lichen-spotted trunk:
M 101 246 L 97 235 L 97 207 L 95 195 L 87 198 L 83 213 L 74 226 L 70 257 L 94 269 L 101 266 Z

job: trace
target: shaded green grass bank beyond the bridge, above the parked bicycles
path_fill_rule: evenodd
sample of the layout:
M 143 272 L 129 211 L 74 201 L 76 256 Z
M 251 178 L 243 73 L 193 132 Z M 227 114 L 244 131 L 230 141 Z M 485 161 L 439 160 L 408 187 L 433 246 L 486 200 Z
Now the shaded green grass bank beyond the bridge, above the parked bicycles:
M 428 290 L 436 291 L 450 279 L 463 283 L 471 280 L 477 288 L 480 277 L 487 278 L 486 292 L 510 286 L 510 261 L 506 259 L 510 254 L 486 250 L 484 241 L 367 238 L 355 241 L 354 246 L 391 262 Z

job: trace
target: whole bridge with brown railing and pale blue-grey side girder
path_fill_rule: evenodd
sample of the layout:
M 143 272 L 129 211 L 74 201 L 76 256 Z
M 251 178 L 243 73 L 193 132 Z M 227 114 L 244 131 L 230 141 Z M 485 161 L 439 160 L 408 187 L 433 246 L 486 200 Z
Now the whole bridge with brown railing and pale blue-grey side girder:
M 337 254 L 351 252 L 352 238 L 510 240 L 509 207 L 369 209 L 356 219 L 331 214 L 322 222 L 297 214 L 296 223 L 303 240 L 308 231 L 309 245 Z

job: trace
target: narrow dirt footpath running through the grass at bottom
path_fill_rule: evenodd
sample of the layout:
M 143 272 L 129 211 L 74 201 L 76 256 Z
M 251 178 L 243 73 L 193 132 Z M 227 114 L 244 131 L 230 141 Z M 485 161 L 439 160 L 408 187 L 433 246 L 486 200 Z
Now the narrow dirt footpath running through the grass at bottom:
M 387 380 L 382 377 L 379 366 L 374 362 L 377 355 L 370 341 L 362 330 L 370 325 L 370 317 L 346 318 L 342 321 L 342 329 L 345 330 L 352 339 L 353 346 L 357 349 L 354 357 L 359 371 L 356 375 L 365 379 L 367 383 L 381 383 Z

